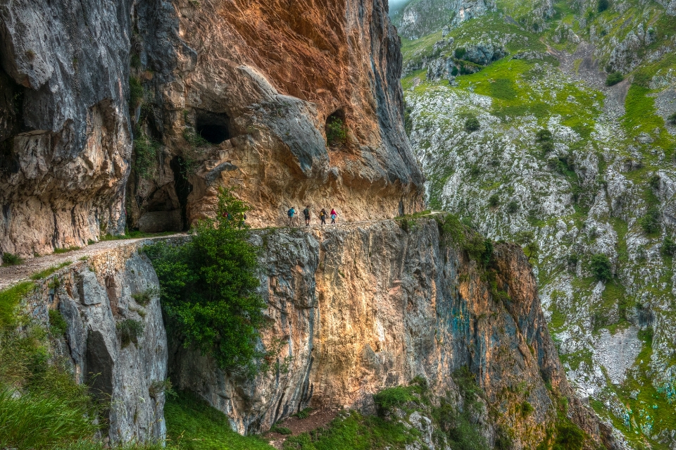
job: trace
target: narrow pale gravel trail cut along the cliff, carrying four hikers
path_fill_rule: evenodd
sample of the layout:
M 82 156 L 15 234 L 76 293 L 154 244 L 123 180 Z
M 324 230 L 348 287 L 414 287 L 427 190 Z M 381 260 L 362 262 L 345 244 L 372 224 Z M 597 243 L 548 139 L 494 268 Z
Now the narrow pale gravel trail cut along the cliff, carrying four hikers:
M 438 213 L 439 212 L 434 211 L 432 213 L 419 217 L 432 216 Z M 317 219 L 313 218 L 312 220 L 316 221 Z M 394 219 L 361 220 L 357 222 L 343 222 L 339 220 L 335 224 L 327 223 L 327 225 L 318 225 L 316 223 L 313 223 L 307 226 L 305 225 L 305 220 L 301 218 L 299 220 L 299 224 L 297 225 L 274 227 L 274 228 L 276 230 L 306 230 L 308 232 L 313 232 L 314 234 L 321 235 L 321 233 L 323 232 L 330 232 L 332 230 L 353 230 L 356 227 L 374 223 L 382 223 L 386 222 L 387 220 Z M 251 228 L 250 230 L 260 231 L 260 230 L 268 230 L 268 228 L 265 227 Z M 61 265 L 66 262 L 75 263 L 75 261 L 82 261 L 84 259 L 89 258 L 90 256 L 94 256 L 96 254 L 100 254 L 112 249 L 118 249 L 120 247 L 127 245 L 141 245 L 151 243 L 156 240 L 170 239 L 173 237 L 180 236 L 187 236 L 187 233 L 176 233 L 175 235 L 139 237 L 135 239 L 116 239 L 113 241 L 96 242 L 96 244 L 91 244 L 82 247 L 81 249 L 68 251 L 67 253 L 38 256 L 37 258 L 27 259 L 23 264 L 2 266 L 0 267 L 0 290 L 16 285 L 19 282 L 30 280 L 31 275 L 38 272 L 42 272 L 42 270 L 47 270 L 54 266 Z

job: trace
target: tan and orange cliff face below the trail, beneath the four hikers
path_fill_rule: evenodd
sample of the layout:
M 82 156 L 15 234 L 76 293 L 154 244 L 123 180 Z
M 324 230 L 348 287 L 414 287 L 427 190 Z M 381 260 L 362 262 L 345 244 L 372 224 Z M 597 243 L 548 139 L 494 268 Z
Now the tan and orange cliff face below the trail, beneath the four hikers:
M 544 439 L 557 395 L 599 439 L 565 380 L 518 246 L 494 251 L 496 286 L 506 292 L 499 299 L 475 261 L 441 243 L 432 219 L 408 232 L 386 221 L 256 239 L 274 320 L 263 340 L 281 350 L 270 372 L 246 380 L 189 349 L 170 351 L 172 380 L 225 412 L 239 432 L 267 430 L 306 406 L 373 410 L 373 393 L 417 375 L 444 393 L 455 389 L 451 374 L 468 366 L 503 413 L 497 424 L 514 430 L 516 448 Z M 527 418 L 514 413 L 523 401 L 534 406 Z

